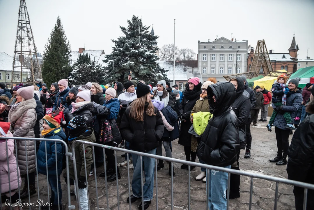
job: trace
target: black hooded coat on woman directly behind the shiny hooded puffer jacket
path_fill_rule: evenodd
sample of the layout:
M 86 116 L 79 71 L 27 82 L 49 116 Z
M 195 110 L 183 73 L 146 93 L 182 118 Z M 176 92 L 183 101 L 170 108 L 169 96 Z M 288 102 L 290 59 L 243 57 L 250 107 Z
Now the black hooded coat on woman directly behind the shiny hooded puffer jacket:
M 250 116 L 251 101 L 249 98 L 243 95 L 244 84 L 242 79 L 239 77 L 236 77 L 235 79 L 238 81 L 238 87 L 236 89 L 236 100 L 231 107 L 238 117 L 239 128 L 245 131 L 245 124 Z

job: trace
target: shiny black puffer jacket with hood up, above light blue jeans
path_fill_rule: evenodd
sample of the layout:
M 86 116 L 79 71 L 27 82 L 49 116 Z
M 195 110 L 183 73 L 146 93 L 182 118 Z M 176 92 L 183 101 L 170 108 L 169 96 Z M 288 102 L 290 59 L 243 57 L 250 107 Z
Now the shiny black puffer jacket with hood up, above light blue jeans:
M 236 161 L 240 150 L 238 119 L 231 108 L 236 99 L 236 88 L 230 82 L 218 82 L 208 86 L 207 95 L 214 117 L 202 135 L 198 155 L 209 165 L 229 166 Z

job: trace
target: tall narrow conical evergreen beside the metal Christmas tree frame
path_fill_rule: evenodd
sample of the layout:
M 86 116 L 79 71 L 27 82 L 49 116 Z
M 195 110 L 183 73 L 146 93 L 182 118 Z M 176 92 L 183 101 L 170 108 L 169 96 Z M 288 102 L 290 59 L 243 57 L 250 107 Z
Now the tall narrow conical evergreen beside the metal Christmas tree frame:
M 67 79 L 71 73 L 71 48 L 58 16 L 43 53 L 42 77 L 50 87 L 51 83 Z

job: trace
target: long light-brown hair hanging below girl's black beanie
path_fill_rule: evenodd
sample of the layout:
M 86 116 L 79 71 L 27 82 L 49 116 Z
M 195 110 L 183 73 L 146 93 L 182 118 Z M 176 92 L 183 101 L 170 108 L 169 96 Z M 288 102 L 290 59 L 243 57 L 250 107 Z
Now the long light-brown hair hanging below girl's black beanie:
M 144 109 L 145 109 L 145 102 L 146 102 L 147 94 L 143 95 L 142 97 L 135 99 L 132 104 L 130 105 L 130 114 L 129 116 L 135 121 L 144 121 Z M 152 101 L 149 101 L 146 114 L 148 116 L 155 116 L 155 108 Z

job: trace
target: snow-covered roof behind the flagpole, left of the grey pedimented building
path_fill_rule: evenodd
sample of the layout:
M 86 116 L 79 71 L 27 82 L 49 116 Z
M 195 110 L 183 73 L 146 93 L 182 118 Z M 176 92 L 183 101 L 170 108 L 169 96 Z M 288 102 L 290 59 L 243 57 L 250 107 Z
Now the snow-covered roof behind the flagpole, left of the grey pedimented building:
M 168 79 L 173 80 L 173 60 L 157 61 L 160 68 L 168 70 Z M 175 80 L 187 80 L 187 68 L 197 68 L 197 60 L 176 60 L 175 61 Z

